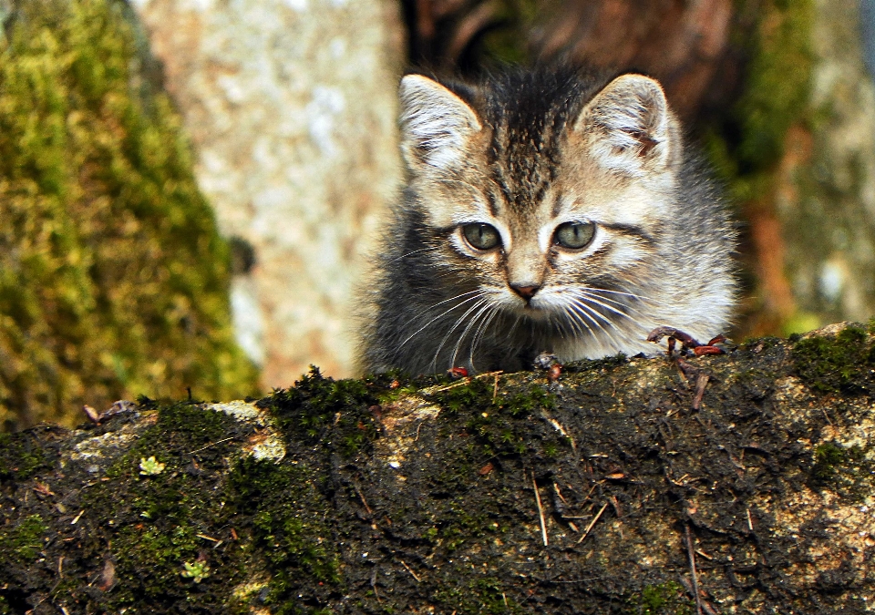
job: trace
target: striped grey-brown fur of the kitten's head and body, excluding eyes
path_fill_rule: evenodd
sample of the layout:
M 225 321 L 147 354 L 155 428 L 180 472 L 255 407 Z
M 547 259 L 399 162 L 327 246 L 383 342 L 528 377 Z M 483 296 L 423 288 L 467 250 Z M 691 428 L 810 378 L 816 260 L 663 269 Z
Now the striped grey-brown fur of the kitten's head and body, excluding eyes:
M 407 187 L 378 262 L 366 371 L 653 355 L 659 325 L 702 340 L 726 329 L 735 232 L 653 79 L 408 75 L 400 98 Z M 592 241 L 561 247 L 563 222 L 594 223 Z M 475 223 L 499 246 L 473 248 L 462 227 Z

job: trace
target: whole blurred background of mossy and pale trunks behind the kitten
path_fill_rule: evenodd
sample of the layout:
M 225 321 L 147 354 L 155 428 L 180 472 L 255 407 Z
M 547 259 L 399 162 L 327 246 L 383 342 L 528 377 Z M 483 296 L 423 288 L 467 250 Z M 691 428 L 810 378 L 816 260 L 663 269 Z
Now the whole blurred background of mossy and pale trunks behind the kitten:
M 0 0 L 0 429 L 355 375 L 407 67 L 659 78 L 737 339 L 875 313 L 875 0 Z

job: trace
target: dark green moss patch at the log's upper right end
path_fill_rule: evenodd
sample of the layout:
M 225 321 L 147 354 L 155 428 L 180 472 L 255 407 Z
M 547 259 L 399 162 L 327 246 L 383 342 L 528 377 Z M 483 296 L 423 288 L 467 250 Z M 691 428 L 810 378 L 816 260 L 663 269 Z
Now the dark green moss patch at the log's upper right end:
M 816 391 L 860 394 L 872 390 L 875 345 L 861 326 L 850 325 L 834 337 L 798 340 L 792 358 L 796 374 Z

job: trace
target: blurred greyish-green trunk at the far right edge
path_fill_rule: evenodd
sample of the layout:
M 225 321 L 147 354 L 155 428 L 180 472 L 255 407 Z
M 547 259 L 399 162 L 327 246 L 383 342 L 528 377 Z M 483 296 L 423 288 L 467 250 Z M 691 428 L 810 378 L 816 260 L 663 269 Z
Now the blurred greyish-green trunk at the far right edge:
M 807 122 L 787 135 L 776 206 L 799 314 L 875 313 L 875 84 L 857 0 L 817 0 Z

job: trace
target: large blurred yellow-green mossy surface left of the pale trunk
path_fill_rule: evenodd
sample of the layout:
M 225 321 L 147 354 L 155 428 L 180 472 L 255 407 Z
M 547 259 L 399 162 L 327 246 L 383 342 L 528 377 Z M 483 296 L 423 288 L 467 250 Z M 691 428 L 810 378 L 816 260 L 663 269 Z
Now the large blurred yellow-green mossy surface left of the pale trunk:
M 16 2 L 0 40 L 0 421 L 256 390 L 229 251 L 113 0 Z

